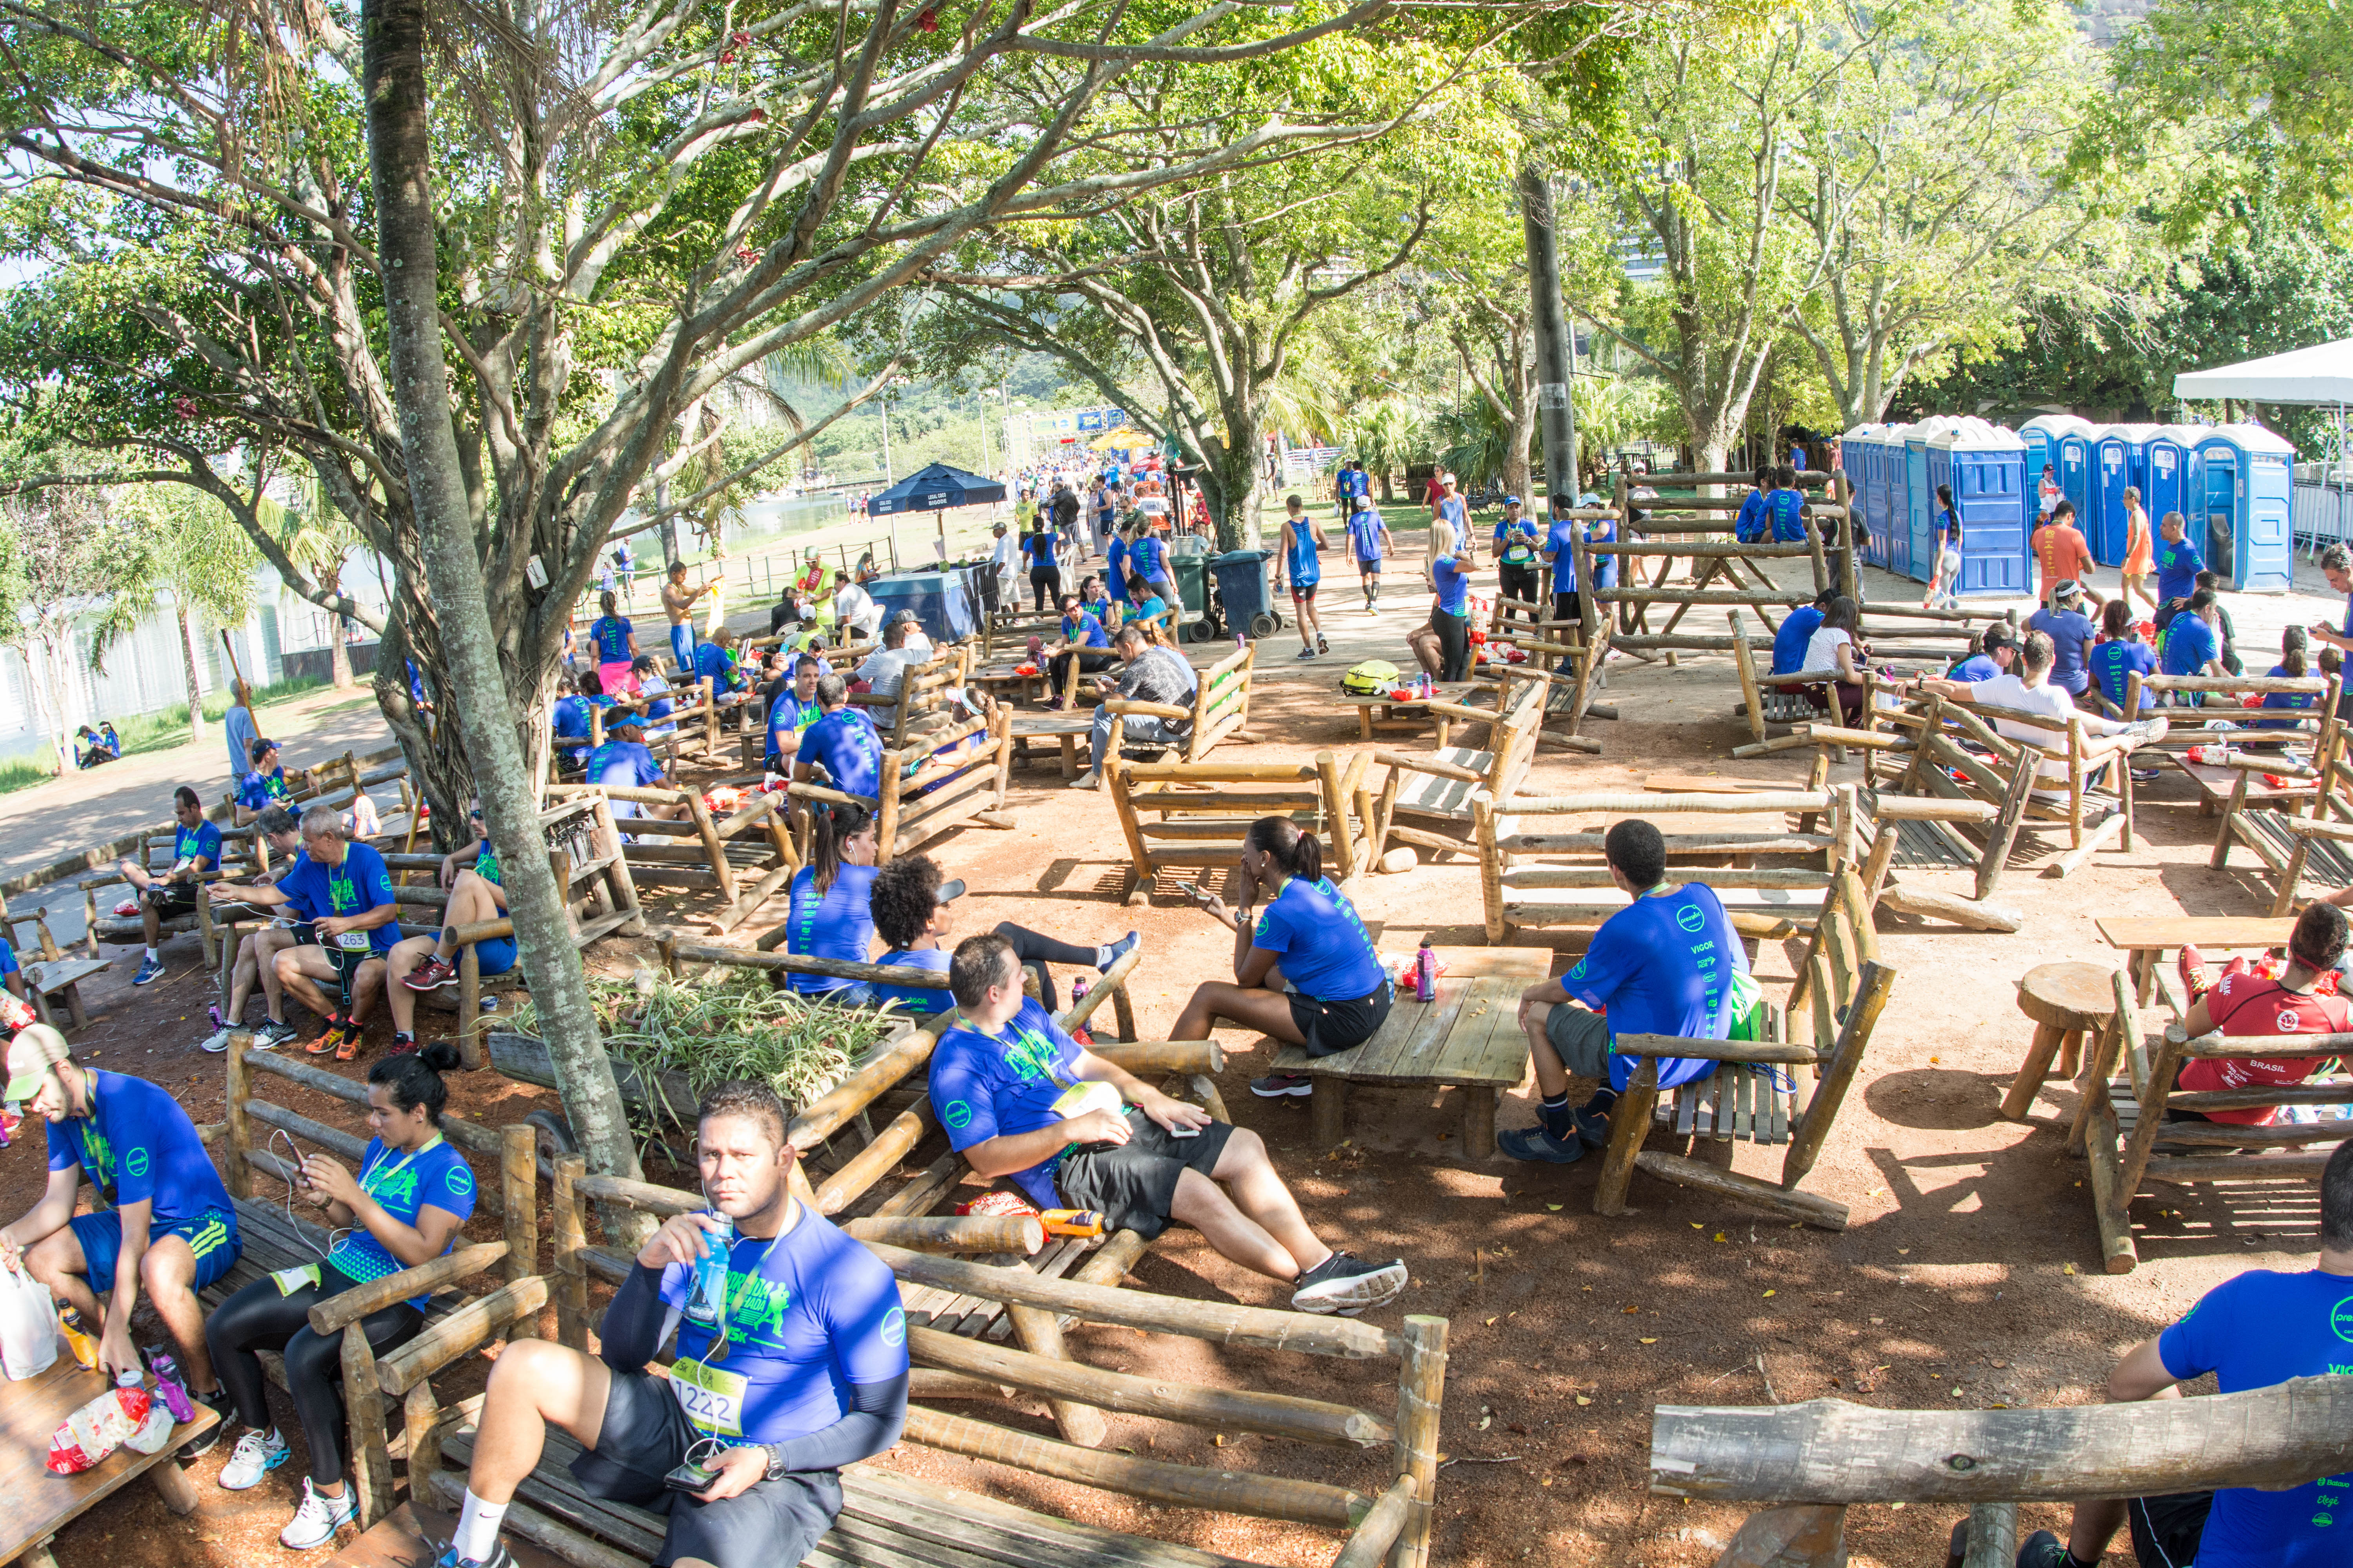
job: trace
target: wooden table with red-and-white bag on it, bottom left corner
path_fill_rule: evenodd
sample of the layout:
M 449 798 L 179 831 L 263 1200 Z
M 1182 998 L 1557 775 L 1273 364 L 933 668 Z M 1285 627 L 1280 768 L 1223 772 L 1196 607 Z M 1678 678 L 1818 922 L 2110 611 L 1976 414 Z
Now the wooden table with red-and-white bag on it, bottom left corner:
M 195 1507 L 195 1481 L 174 1455 L 188 1439 L 219 1425 L 221 1418 L 205 1406 L 195 1406 L 195 1420 L 174 1427 L 172 1441 L 155 1453 L 118 1448 L 104 1465 L 78 1476 L 49 1474 L 49 1434 L 106 1389 L 106 1375 L 85 1373 L 64 1345 L 56 1347 L 56 1363 L 40 1378 L 0 1385 L 0 1497 L 7 1497 L 0 1563 L 56 1568 L 49 1556 L 52 1537 L 139 1476 L 148 1479 L 174 1514 Z

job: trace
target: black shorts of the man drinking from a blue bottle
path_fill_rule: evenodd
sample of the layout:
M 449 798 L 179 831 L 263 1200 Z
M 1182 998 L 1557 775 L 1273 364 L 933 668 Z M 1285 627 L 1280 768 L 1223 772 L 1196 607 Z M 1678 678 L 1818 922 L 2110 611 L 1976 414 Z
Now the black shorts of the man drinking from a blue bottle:
M 696 1441 L 666 1378 L 614 1373 L 605 1396 L 605 1429 L 595 1448 L 572 1460 L 572 1479 L 591 1497 L 668 1514 L 654 1568 L 696 1556 L 718 1568 L 798 1563 L 842 1512 L 842 1472 L 807 1469 L 781 1481 L 755 1481 L 725 1502 L 696 1502 L 661 1483 Z

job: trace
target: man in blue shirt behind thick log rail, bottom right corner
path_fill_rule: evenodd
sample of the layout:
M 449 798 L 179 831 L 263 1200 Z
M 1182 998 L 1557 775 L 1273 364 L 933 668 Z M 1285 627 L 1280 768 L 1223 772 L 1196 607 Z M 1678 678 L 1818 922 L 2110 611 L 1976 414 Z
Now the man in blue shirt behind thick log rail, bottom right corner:
M 2247 1269 L 2207 1291 L 2181 1321 L 2141 1340 L 2108 1373 L 2108 1401 L 2169 1399 L 2214 1373 L 2221 1394 L 2348 1373 L 2353 1300 L 2353 1143 L 2320 1173 L 2320 1262 L 2299 1274 Z M 2019 1568 L 2092 1568 L 2120 1528 L 2141 1563 L 2198 1568 L 2339 1568 L 2353 1556 L 2353 1474 L 2259 1490 L 2226 1486 L 2078 1502 L 2061 1542 L 2035 1530 Z

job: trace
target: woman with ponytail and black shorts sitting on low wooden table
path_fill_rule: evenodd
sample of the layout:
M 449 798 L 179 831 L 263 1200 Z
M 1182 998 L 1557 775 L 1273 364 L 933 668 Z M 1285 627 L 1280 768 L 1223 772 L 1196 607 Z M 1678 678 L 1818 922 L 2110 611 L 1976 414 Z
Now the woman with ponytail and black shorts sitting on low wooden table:
M 1372 1039 L 1393 987 L 1355 905 L 1322 875 L 1322 844 L 1287 816 L 1242 835 L 1242 907 L 1195 886 L 1195 903 L 1233 931 L 1233 980 L 1193 990 L 1169 1039 L 1209 1039 L 1219 1018 L 1332 1056 Z M 1252 919 L 1254 910 L 1259 912 Z M 1278 966 L 1280 964 L 1280 966 Z M 1261 1098 L 1306 1095 L 1304 1074 L 1252 1079 Z

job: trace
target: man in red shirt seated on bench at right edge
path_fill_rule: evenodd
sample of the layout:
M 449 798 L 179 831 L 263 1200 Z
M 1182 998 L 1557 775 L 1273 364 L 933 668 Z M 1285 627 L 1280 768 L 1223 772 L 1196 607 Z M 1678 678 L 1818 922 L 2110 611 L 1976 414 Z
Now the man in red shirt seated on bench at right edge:
M 2278 978 L 2247 966 L 2247 959 L 2231 959 L 2221 978 L 2207 987 L 2205 961 L 2195 947 L 2181 950 L 2181 983 L 2188 985 L 2191 1011 L 2181 1027 L 2191 1039 L 2200 1034 L 2341 1034 L 2348 1030 L 2353 1009 L 2337 994 L 2337 961 L 2346 952 L 2346 914 L 2332 903 L 2315 903 L 2297 919 L 2294 936 L 2287 938 L 2287 969 Z M 2320 1056 L 2247 1056 L 2247 1058 L 2191 1058 L 2181 1065 L 2177 1086 L 2181 1091 L 2205 1088 L 2292 1088 L 2329 1060 L 2334 1051 Z M 2228 1121 L 2233 1126 L 2264 1126 L 2278 1114 L 2275 1105 L 2247 1110 L 2174 1110 L 2167 1121 Z

